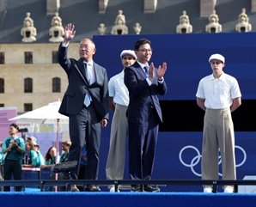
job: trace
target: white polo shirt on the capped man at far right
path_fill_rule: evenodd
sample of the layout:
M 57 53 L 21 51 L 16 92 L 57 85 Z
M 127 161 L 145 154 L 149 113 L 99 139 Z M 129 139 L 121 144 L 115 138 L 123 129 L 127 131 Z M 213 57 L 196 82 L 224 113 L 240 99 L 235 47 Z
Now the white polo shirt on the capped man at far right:
M 235 77 L 222 72 L 219 79 L 213 74 L 202 78 L 196 96 L 204 99 L 204 106 L 211 109 L 227 108 L 232 100 L 241 97 L 241 91 Z

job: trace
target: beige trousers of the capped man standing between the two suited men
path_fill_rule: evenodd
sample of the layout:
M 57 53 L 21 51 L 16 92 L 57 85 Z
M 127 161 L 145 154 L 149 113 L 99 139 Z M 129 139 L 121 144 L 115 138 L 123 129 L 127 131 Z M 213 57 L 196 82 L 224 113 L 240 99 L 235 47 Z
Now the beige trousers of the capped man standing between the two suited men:
M 127 107 L 117 104 L 113 114 L 106 165 L 107 180 L 123 180 L 124 178 L 125 143 L 128 134 L 126 111 Z

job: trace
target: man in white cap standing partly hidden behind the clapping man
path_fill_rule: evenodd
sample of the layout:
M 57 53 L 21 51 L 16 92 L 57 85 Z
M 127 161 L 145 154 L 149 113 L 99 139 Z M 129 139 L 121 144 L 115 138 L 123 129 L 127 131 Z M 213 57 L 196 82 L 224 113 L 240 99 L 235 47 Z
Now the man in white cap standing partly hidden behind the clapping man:
M 135 63 L 134 51 L 124 50 L 120 53 L 123 70 L 110 78 L 108 82 L 109 108 L 113 111 L 110 143 L 107 156 L 107 180 L 123 180 L 125 170 L 125 143 L 128 134 L 126 111 L 129 105 L 129 92 L 125 86 L 125 68 Z M 108 186 L 114 192 L 114 186 Z

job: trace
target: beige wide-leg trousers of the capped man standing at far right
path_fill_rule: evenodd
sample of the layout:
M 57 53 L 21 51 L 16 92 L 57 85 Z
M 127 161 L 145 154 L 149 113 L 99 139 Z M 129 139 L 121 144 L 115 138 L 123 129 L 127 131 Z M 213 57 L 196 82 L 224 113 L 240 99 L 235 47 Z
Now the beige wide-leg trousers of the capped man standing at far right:
M 218 180 L 218 149 L 220 149 L 222 157 L 222 180 L 236 180 L 235 135 L 229 108 L 207 108 L 205 111 L 201 162 L 202 180 Z

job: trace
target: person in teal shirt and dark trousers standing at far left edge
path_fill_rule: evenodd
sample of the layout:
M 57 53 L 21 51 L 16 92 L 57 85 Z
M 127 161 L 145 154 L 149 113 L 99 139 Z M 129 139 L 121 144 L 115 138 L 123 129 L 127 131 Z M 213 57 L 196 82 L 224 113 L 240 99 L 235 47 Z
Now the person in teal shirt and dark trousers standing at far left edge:
M 2 151 L 6 154 L 3 164 L 3 179 L 21 180 L 21 160 L 25 151 L 24 140 L 17 136 L 19 126 L 16 124 L 9 125 L 9 137 L 3 140 Z M 10 191 L 10 186 L 3 186 L 4 192 Z M 21 186 L 15 186 L 15 192 L 21 192 Z

